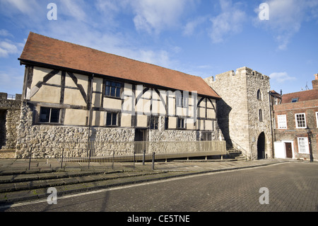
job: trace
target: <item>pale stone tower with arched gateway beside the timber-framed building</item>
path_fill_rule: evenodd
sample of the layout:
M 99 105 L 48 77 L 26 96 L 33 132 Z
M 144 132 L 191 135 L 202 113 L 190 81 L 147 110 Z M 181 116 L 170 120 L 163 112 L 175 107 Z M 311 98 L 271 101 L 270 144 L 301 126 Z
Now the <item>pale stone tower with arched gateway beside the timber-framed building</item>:
M 217 118 L 228 147 L 247 159 L 273 157 L 269 77 L 241 67 L 204 80 L 222 98 Z

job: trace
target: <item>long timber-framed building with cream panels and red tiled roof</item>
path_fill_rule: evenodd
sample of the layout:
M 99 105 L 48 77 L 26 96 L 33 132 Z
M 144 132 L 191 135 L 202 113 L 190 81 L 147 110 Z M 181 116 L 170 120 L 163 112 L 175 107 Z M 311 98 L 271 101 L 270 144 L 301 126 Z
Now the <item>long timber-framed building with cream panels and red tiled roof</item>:
M 36 33 L 18 60 L 25 78 L 16 157 L 27 157 L 30 145 L 33 157 L 56 157 L 61 144 L 87 140 L 223 140 L 220 96 L 201 77 Z

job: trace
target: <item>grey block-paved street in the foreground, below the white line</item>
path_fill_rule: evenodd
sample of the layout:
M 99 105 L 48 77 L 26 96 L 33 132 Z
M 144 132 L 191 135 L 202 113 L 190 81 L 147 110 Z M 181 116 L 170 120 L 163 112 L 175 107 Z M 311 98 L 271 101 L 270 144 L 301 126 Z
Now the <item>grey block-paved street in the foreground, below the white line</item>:
M 268 188 L 268 196 L 260 188 Z M 261 205 L 261 196 L 269 204 Z M 287 162 L 155 181 L 0 211 L 318 211 L 318 164 Z

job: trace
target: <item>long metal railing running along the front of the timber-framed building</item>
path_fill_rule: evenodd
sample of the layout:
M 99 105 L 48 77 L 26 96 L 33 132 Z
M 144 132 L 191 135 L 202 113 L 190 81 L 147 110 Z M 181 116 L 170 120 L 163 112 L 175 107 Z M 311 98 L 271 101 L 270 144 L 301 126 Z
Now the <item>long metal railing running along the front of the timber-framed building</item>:
M 194 142 L 62 142 L 54 147 L 30 145 L 28 158 L 56 158 L 61 162 L 146 162 L 159 159 L 225 155 L 225 141 Z

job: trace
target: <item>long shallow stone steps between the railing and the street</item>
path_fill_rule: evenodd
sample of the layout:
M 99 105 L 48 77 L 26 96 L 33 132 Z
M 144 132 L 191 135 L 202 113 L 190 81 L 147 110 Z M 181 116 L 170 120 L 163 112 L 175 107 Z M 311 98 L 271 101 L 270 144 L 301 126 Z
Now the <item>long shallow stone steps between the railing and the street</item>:
M 0 159 L 0 205 L 47 197 L 47 188 L 57 188 L 59 195 L 93 191 L 169 179 L 176 176 L 204 174 L 213 171 L 246 169 L 255 166 L 288 162 L 286 159 L 264 159 L 237 162 L 158 162 L 152 169 L 151 162 L 112 164 L 65 163 L 57 159 Z

